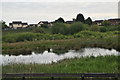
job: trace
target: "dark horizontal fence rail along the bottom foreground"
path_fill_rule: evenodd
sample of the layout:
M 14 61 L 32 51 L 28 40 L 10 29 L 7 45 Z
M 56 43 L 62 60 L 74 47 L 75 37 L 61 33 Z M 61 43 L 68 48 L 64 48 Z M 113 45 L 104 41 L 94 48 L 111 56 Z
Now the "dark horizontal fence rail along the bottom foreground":
M 26 77 L 51 77 L 52 80 L 55 77 L 81 77 L 82 80 L 84 80 L 85 77 L 111 77 L 115 80 L 118 80 L 120 77 L 120 74 L 117 73 L 25 73 L 25 74 L 2 74 L 3 78 L 15 78 L 15 77 L 21 77 L 22 80 L 25 80 Z

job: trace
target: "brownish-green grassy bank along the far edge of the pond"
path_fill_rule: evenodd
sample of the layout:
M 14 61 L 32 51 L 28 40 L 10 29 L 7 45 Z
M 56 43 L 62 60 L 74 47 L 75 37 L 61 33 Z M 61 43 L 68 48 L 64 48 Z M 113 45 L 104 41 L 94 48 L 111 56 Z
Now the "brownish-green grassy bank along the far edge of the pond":
M 24 41 L 15 43 L 3 43 L 3 54 L 31 54 L 34 52 L 43 52 L 52 48 L 56 53 L 64 53 L 70 49 L 79 50 L 85 47 L 100 47 L 119 50 L 118 36 L 104 36 L 99 38 L 83 37 L 63 40 L 38 40 Z

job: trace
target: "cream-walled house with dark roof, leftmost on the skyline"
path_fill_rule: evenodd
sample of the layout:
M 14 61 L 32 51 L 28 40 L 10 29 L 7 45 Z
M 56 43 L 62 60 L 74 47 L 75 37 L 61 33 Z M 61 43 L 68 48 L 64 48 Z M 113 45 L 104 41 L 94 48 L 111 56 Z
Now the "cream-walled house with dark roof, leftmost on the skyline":
M 12 23 L 9 23 L 9 27 L 13 29 L 25 28 L 28 27 L 28 24 L 22 23 L 22 21 L 13 21 Z

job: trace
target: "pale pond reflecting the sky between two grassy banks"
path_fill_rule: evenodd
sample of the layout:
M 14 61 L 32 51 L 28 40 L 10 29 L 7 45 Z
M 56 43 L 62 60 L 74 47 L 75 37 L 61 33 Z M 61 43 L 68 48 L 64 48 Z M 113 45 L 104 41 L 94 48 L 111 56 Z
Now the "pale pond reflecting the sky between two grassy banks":
M 31 55 L 0 55 L 0 65 L 9 65 L 9 64 L 30 64 L 30 63 L 38 63 L 38 64 L 51 64 L 57 63 L 60 60 L 71 59 L 71 58 L 81 58 L 81 57 L 90 57 L 90 56 L 105 56 L 105 55 L 118 55 L 120 52 L 111 49 L 102 49 L 102 48 L 84 48 L 78 51 L 69 50 L 64 54 L 56 54 L 53 52 L 44 51 L 43 53 L 34 53 Z

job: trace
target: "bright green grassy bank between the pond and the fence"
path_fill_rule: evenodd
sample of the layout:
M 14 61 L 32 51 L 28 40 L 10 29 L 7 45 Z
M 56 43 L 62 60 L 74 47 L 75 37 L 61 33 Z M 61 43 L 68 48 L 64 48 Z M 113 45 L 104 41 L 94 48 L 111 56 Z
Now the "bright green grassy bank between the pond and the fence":
M 52 64 L 11 64 L 3 73 L 120 73 L 119 56 L 66 59 Z

